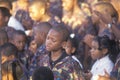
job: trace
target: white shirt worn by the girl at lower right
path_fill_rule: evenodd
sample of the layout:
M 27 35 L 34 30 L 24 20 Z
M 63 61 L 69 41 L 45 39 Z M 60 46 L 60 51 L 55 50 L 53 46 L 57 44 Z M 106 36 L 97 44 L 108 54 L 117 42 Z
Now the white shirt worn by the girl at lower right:
M 105 75 L 105 70 L 108 74 L 112 71 L 114 63 L 109 59 L 109 55 L 97 60 L 91 69 L 91 80 L 97 80 L 98 75 Z

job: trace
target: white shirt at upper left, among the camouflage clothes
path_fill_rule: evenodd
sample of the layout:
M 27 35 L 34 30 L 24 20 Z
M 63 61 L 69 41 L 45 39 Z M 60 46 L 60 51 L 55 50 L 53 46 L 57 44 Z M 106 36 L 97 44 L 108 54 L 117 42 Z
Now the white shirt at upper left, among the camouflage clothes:
M 10 19 L 8 21 L 8 26 L 14 28 L 15 30 L 25 31 L 22 24 L 17 19 L 15 19 L 15 17 L 13 17 L 13 16 L 10 17 Z

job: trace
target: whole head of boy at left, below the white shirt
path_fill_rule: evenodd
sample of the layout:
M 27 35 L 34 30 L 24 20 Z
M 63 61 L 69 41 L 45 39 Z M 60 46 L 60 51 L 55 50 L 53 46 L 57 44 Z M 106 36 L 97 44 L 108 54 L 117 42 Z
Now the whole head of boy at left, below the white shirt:
M 18 51 L 23 51 L 26 45 L 26 40 L 26 34 L 21 30 L 17 30 L 13 33 L 11 42 L 18 48 Z

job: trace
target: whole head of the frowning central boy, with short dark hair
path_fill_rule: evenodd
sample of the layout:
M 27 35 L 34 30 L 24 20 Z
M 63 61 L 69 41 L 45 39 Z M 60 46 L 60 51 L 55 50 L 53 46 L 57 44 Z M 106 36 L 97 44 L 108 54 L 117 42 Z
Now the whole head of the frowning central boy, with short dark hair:
M 69 37 L 69 31 L 64 24 L 52 27 L 46 38 L 46 49 L 48 51 L 59 51 L 63 49 Z

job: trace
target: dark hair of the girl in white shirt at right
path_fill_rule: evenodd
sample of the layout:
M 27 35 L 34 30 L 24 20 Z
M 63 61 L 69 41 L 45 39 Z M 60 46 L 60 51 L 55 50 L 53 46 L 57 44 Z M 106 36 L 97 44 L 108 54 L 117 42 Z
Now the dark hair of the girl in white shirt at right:
M 98 42 L 99 50 L 102 50 L 103 48 L 108 49 L 107 54 L 109 54 L 109 58 L 115 63 L 116 57 L 119 53 L 117 42 L 115 40 L 110 40 L 109 37 L 106 35 L 103 37 L 97 36 L 94 41 Z

